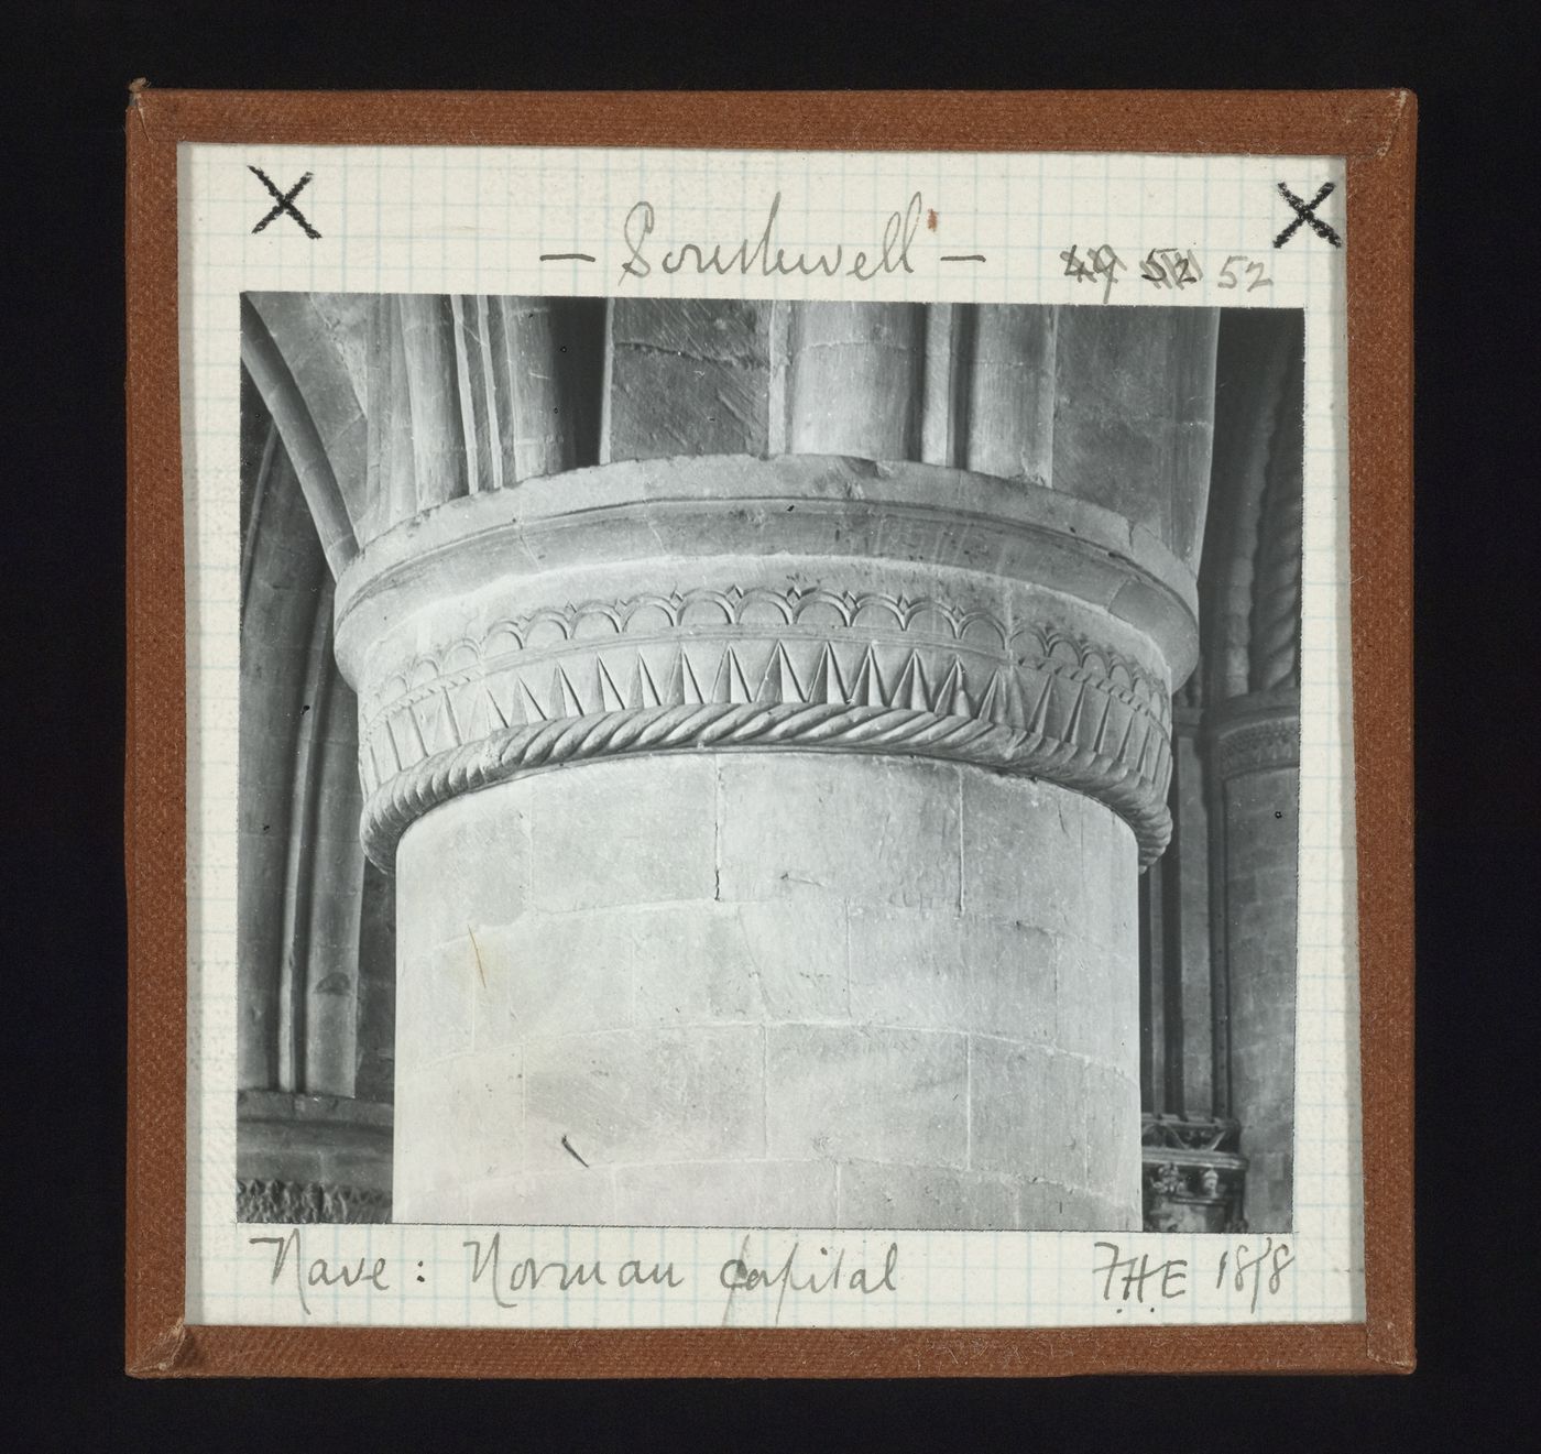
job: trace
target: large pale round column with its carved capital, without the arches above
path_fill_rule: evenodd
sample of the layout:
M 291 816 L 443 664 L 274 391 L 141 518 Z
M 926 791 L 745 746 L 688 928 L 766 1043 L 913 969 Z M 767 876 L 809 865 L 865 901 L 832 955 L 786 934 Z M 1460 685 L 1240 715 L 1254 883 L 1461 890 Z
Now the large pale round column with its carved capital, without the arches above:
M 1031 482 L 697 456 L 339 581 L 401 1220 L 1137 1228 L 1193 575 Z

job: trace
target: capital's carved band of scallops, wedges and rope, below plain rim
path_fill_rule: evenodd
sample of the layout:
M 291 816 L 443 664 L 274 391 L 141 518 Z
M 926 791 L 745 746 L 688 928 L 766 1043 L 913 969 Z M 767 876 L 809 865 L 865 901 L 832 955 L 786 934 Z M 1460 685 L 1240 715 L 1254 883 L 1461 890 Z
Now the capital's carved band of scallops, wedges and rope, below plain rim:
M 974 762 L 1108 802 L 1147 859 L 1170 836 L 1170 707 L 1145 672 L 929 599 L 713 590 L 539 611 L 421 658 L 365 710 L 365 843 L 387 866 L 407 826 L 455 793 L 690 747 Z

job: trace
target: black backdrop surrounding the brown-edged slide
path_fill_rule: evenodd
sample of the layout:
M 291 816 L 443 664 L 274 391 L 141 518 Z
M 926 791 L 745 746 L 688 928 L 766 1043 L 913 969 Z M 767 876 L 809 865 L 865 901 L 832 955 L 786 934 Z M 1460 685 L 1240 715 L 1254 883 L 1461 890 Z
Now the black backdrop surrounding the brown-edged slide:
M 1541 886 L 1529 6 L 59 3 L 0 32 L 6 1383 L 20 1448 L 1362 1449 L 1529 1442 Z M 203 1385 L 122 1375 L 123 109 L 197 88 L 1341 88 L 1419 99 L 1410 1377 Z M 15 792 L 20 789 L 20 792 Z M 17 933 L 18 930 L 18 933 Z M 17 1164 L 17 1152 L 25 1160 Z M 1535 1382 L 1533 1375 L 1530 1382 Z M 18 1425 L 18 1428 L 17 1428 Z M 9 1442 L 9 1440 L 8 1440 Z M 94 1440 L 92 1440 L 94 1442 Z

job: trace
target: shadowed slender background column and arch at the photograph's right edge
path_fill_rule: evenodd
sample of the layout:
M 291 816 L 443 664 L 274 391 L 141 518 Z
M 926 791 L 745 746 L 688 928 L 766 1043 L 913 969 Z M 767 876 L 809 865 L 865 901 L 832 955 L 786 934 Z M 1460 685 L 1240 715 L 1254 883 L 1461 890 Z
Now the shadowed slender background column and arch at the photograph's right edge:
M 1216 419 L 1207 576 L 1214 1104 L 1241 1124 L 1242 1215 L 1293 1225 L 1301 787 L 1304 333 L 1237 311 L 1219 351 L 1251 380 Z

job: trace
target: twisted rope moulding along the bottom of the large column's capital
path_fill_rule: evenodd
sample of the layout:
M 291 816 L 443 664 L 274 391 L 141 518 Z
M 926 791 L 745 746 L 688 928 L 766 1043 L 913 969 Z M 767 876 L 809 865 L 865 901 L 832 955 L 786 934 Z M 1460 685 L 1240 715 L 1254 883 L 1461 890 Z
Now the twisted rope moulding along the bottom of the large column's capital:
M 1156 761 L 1147 770 L 1153 741 Z M 509 727 L 436 753 L 370 795 L 364 804 L 364 847 L 376 864 L 390 870 L 402 833 L 430 809 L 536 769 L 612 753 L 749 747 L 903 753 L 1043 778 L 1096 798 L 1123 818 L 1134 830 L 1142 866 L 1159 858 L 1171 838 L 1165 802 L 1170 753 L 1154 736 L 1147 738 L 1139 761 L 1128 762 L 1120 753 L 1031 729 L 908 707 L 698 702 Z

